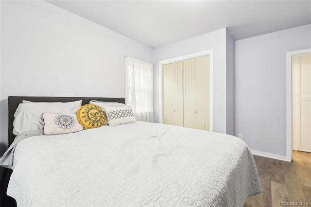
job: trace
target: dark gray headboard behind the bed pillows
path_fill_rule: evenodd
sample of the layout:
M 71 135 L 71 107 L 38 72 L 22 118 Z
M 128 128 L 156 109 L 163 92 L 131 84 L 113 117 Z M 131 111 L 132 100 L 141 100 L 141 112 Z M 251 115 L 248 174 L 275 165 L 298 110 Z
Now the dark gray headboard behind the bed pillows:
M 82 105 L 88 104 L 91 100 L 103 101 L 103 102 L 119 102 L 125 104 L 124 98 L 99 98 L 99 97 L 35 97 L 35 96 L 9 96 L 9 145 L 14 141 L 16 137 L 13 134 L 13 121 L 14 113 L 18 104 L 21 104 L 23 100 L 31 102 L 73 102 L 82 100 Z

